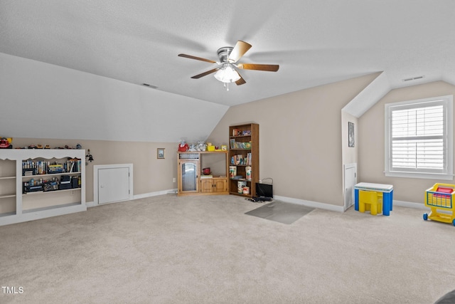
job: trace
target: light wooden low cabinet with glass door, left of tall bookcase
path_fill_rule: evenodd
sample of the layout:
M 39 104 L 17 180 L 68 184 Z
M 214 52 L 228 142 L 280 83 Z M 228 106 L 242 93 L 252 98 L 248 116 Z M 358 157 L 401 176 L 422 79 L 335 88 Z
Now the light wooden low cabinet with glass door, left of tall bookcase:
M 220 168 L 211 177 L 201 178 L 204 160 L 219 155 L 223 158 Z M 202 194 L 228 194 L 228 151 L 178 152 L 178 196 Z

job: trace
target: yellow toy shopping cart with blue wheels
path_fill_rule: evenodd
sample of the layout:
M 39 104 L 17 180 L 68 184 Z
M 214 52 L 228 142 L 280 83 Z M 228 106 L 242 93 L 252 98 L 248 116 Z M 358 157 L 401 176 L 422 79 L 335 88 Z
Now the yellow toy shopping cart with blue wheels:
M 425 192 L 425 206 L 432 211 L 424 213 L 424 220 L 441 221 L 455 226 L 454 216 L 454 184 L 434 184 Z

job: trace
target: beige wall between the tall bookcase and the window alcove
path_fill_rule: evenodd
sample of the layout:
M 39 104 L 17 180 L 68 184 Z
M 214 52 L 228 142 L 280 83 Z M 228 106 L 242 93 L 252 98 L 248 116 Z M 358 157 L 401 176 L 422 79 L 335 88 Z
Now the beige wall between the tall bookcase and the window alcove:
M 274 194 L 343 206 L 341 109 L 376 77 L 231 107 L 208 141 L 226 143 L 229 125 L 257 122 L 259 178 L 273 179 Z

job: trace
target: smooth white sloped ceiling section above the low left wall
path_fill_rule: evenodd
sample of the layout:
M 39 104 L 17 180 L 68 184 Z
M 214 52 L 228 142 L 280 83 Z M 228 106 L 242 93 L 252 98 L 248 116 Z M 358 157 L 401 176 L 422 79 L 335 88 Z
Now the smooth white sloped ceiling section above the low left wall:
M 205 140 L 219 105 L 0 53 L 0 136 L 189 142 Z

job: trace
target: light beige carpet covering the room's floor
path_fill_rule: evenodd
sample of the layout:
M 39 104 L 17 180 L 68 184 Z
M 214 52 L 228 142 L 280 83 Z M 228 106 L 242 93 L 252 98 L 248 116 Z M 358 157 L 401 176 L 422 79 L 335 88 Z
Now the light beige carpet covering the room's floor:
M 422 210 L 315 209 L 293 224 L 239 196 L 154 196 L 0 227 L 0 303 L 434 303 L 455 227 Z

